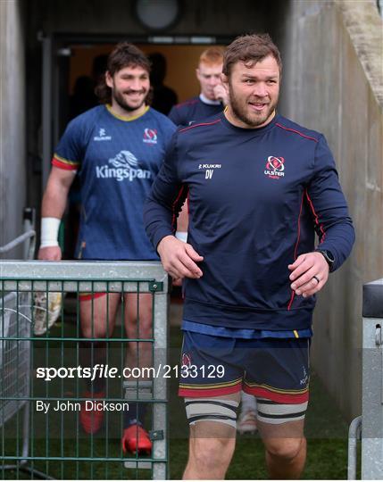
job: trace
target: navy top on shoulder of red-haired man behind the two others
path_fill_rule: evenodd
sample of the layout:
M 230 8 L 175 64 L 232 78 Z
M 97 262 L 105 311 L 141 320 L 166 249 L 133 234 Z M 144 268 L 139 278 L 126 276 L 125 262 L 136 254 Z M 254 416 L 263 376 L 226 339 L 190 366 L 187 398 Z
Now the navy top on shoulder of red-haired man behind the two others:
M 212 117 L 224 109 L 221 102 L 219 104 L 207 104 L 201 100 L 201 96 L 192 97 L 181 104 L 173 105 L 169 112 L 169 119 L 176 126 L 189 126 L 206 117 Z

